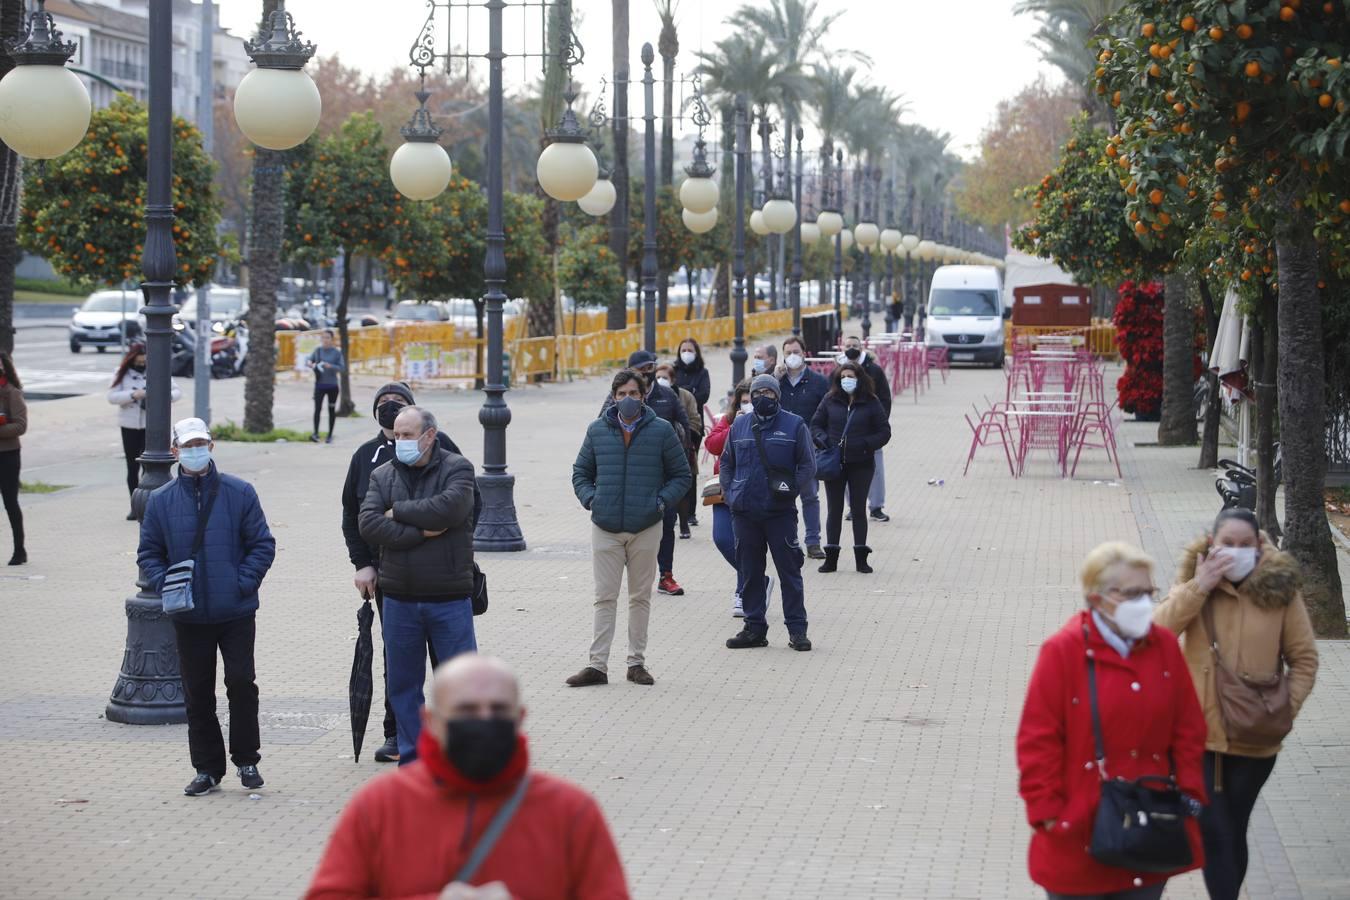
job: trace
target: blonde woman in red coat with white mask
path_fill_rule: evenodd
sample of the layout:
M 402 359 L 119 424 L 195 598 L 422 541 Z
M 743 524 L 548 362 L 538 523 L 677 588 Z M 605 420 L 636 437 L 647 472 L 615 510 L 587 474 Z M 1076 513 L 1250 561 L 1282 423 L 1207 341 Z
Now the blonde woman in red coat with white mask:
M 1166 880 L 1204 862 L 1195 819 L 1206 799 L 1204 714 L 1176 636 L 1153 625 L 1153 561 L 1129 544 L 1103 544 L 1083 564 L 1087 609 L 1042 646 L 1027 687 L 1017 757 L 1031 837 L 1031 880 L 1052 897 L 1157 900 Z M 1169 757 L 1192 818 L 1192 864 L 1143 873 L 1088 851 L 1102 792 L 1092 737 L 1088 657 L 1095 660 L 1108 777 L 1168 775 Z

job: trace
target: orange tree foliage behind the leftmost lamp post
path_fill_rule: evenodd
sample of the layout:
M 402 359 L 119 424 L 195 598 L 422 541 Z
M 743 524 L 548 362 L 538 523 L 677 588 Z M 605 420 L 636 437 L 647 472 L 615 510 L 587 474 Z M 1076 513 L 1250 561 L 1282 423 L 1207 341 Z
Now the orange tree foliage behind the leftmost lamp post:
M 19 244 L 73 282 L 120 285 L 138 278 L 146 240 L 147 134 L 146 108 L 117 94 L 93 113 L 78 147 L 46 166 L 28 166 Z M 182 119 L 174 119 L 173 139 L 174 278 L 202 285 L 219 252 L 215 163 L 201 148 L 201 134 Z

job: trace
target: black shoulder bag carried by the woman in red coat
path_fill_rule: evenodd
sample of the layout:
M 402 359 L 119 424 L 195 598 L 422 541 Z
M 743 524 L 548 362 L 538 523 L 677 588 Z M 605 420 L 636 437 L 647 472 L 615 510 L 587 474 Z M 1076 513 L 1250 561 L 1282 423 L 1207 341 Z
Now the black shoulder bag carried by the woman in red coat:
M 1102 797 L 1092 822 L 1092 858 L 1130 872 L 1176 872 L 1191 865 L 1191 841 L 1185 833 L 1187 807 L 1169 775 L 1146 775 L 1134 781 L 1108 779 L 1102 716 L 1098 711 L 1096 661 L 1088 657 L 1088 698 L 1092 706 L 1092 737 Z M 1172 754 L 1168 753 L 1168 760 Z

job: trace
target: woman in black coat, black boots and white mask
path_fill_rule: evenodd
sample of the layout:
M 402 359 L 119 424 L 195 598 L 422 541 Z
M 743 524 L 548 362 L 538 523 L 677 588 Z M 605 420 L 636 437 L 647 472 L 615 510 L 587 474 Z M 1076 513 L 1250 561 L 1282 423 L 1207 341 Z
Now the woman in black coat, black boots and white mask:
M 876 398 L 872 379 L 857 363 L 844 363 L 830 375 L 830 393 L 811 417 L 815 445 L 840 447 L 842 475 L 825 482 L 825 564 L 821 572 L 833 572 L 840 561 L 840 532 L 844 525 L 844 488 L 848 488 L 853 514 L 853 559 L 859 572 L 871 572 L 867 555 L 867 491 L 876 468 L 873 453 L 891 440 L 891 422 L 882 401 Z

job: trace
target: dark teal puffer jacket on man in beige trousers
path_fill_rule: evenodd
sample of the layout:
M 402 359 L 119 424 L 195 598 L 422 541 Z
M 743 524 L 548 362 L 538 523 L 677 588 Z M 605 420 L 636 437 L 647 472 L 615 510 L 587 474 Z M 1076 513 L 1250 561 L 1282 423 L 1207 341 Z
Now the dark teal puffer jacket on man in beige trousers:
M 618 409 L 609 407 L 586 429 L 572 464 L 572 490 L 591 521 L 612 533 L 636 533 L 662 521 L 688 493 L 693 476 L 675 429 L 643 407 L 632 443 L 624 445 Z

